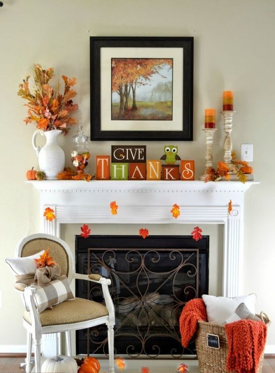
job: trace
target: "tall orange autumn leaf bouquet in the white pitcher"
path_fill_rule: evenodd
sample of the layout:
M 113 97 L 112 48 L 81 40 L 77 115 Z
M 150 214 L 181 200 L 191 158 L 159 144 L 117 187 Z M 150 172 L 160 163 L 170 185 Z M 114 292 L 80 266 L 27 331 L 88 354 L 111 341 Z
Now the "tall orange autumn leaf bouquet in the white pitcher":
M 55 89 L 49 85 L 49 81 L 54 76 L 54 69 L 50 67 L 44 70 L 41 65 L 32 66 L 34 91 L 31 93 L 29 87 L 30 75 L 27 75 L 19 85 L 18 95 L 28 103 L 28 115 L 24 119 L 26 124 L 36 122 L 36 127 L 42 131 L 61 130 L 64 134 L 69 131 L 69 126 L 77 124 L 76 118 L 70 114 L 78 109 L 78 105 L 73 103 L 77 93 L 71 89 L 77 82 L 76 78 L 68 78 L 62 75 L 64 82 L 64 92 L 61 94 L 60 82 L 58 80 Z

